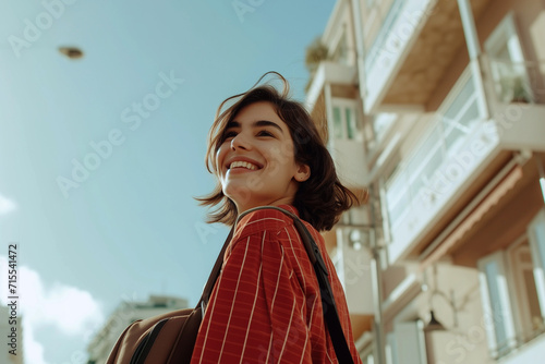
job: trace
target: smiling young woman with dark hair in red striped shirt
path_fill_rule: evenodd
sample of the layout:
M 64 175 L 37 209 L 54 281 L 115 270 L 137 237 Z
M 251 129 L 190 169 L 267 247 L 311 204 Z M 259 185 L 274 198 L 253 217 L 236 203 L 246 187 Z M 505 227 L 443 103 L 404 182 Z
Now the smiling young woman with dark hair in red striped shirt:
M 218 185 L 199 199 L 217 207 L 210 222 L 232 226 L 257 206 L 279 206 L 305 221 L 326 262 L 353 361 L 361 363 L 343 290 L 318 233 L 358 198 L 339 182 L 310 114 L 277 76 L 284 84 L 281 94 L 270 85 L 254 86 L 220 105 L 206 155 Z M 239 220 L 193 363 L 338 363 L 313 266 L 287 215 L 261 209 Z

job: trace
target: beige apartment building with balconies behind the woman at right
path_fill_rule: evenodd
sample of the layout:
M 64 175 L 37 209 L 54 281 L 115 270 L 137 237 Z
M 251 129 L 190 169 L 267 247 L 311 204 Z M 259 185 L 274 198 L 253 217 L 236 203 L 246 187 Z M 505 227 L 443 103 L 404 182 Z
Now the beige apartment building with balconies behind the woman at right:
M 306 105 L 364 363 L 545 356 L 545 3 L 338 0 Z

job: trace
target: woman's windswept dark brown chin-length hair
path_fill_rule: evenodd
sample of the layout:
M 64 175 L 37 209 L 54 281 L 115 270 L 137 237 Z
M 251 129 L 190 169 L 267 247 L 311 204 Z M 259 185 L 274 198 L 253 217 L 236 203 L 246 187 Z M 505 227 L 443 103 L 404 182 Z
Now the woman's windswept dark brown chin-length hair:
M 275 74 L 281 80 L 283 83 L 281 94 L 269 84 L 257 86 L 267 74 Z M 234 104 L 221 111 L 229 101 Z M 218 173 L 215 156 L 225 139 L 227 125 L 244 107 L 259 101 L 270 102 L 278 117 L 288 125 L 293 139 L 295 162 L 311 168 L 311 177 L 299 183 L 293 206 L 299 210 L 301 218 L 308 221 L 316 230 L 330 230 L 342 211 L 353 204 L 359 204 L 360 201 L 340 183 L 334 160 L 316 125 L 305 108 L 289 98 L 289 84 L 279 73 L 265 73 L 250 90 L 231 96 L 221 102 L 208 134 L 206 168 L 210 173 Z M 208 214 L 208 222 L 234 225 L 238 216 L 237 206 L 223 194 L 219 179 L 210 194 L 196 199 L 201 205 L 217 206 Z

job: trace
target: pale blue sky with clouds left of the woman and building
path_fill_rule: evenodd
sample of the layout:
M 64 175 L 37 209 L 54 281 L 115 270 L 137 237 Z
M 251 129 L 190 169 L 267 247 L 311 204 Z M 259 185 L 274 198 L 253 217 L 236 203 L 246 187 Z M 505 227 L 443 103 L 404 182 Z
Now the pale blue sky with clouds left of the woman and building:
M 0 3 L 0 277 L 16 242 L 33 364 L 76 362 L 123 298 L 196 303 L 227 234 L 193 199 L 216 108 L 270 70 L 302 100 L 335 5 L 64 1 Z

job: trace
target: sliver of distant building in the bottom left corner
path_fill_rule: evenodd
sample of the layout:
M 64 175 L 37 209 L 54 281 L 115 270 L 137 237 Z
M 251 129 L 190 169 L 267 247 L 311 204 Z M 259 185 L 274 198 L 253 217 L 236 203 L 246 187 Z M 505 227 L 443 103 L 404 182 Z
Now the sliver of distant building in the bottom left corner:
M 22 317 L 16 315 L 15 321 L 9 306 L 0 306 L 0 338 L 2 338 L 0 350 L 0 363 L 23 364 L 23 329 Z M 10 353 L 10 351 L 12 353 Z M 15 353 L 15 355 L 13 355 Z

